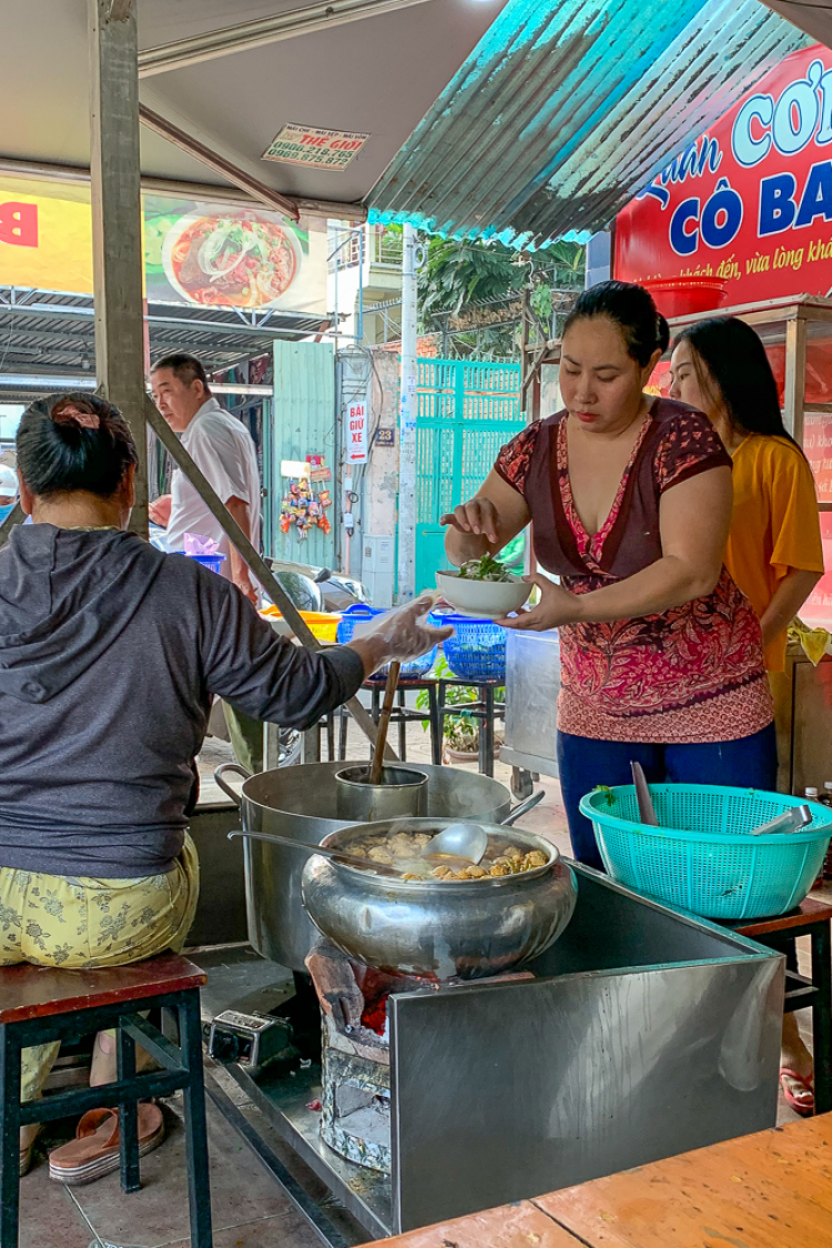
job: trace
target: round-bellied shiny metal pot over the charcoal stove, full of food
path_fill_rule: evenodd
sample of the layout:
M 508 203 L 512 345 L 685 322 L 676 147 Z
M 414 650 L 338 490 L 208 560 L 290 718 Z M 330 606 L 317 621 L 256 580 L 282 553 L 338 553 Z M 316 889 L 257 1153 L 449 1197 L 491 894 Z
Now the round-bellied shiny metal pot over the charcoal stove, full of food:
M 408 819 L 358 824 L 327 836 L 351 844 L 385 831 L 442 831 L 450 820 Z M 495 880 L 445 884 L 395 880 L 331 859 L 303 869 L 303 904 L 316 927 L 349 957 L 383 971 L 437 980 L 500 975 L 536 957 L 560 936 L 575 910 L 575 876 L 541 836 L 483 825 L 485 831 L 543 850 L 548 865 Z

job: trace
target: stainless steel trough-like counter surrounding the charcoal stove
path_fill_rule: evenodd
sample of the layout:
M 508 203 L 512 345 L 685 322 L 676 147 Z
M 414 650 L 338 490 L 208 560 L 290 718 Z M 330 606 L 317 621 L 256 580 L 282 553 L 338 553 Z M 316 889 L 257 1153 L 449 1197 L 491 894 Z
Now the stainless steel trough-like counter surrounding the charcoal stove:
M 390 1003 L 393 1174 L 317 1138 L 314 1071 L 235 1078 L 365 1229 L 399 1233 L 776 1122 L 783 960 L 576 867 L 534 980 Z M 298 1072 L 298 1076 L 301 1072 Z M 379 1227 L 382 1231 L 379 1231 Z

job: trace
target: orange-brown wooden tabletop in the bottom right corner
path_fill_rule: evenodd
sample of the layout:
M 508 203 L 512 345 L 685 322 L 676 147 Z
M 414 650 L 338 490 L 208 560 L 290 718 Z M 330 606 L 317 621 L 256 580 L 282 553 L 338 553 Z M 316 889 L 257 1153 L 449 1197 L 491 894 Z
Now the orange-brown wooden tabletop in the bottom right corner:
M 387 1248 L 832 1248 L 832 1114 L 489 1209 Z

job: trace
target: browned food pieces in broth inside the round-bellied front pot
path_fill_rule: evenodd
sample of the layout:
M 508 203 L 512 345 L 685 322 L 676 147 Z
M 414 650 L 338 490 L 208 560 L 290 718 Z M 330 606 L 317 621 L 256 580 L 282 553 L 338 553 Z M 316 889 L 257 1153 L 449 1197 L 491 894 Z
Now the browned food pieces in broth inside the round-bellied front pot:
M 403 880 L 494 880 L 508 875 L 521 875 L 546 866 L 549 859 L 543 850 L 529 850 L 524 845 L 513 845 L 500 836 L 489 836 L 489 845 L 483 860 L 478 864 L 465 864 L 464 859 L 449 857 L 445 854 L 432 854 L 429 859 L 419 856 L 430 836 L 427 832 L 379 832 L 375 836 L 362 836 L 344 845 L 356 857 L 365 857 L 368 864 L 379 862 L 383 866 L 400 866 Z M 444 859 L 444 861 L 443 861 Z M 418 870 L 422 867 L 422 870 Z

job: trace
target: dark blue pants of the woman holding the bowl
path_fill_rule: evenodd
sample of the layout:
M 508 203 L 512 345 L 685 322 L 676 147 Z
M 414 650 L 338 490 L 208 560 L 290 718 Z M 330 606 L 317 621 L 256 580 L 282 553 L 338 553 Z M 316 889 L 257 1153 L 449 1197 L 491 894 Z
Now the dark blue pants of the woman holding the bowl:
M 599 784 L 632 784 L 630 763 L 640 763 L 649 784 L 713 784 L 765 789 L 777 786 L 777 736 L 770 724 L 738 741 L 701 745 L 642 745 L 596 741 L 558 733 L 560 787 L 569 821 L 569 839 L 579 862 L 602 871 L 593 825 L 579 810 L 581 797 Z

